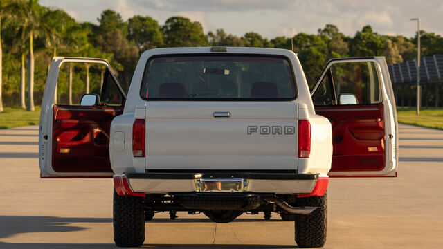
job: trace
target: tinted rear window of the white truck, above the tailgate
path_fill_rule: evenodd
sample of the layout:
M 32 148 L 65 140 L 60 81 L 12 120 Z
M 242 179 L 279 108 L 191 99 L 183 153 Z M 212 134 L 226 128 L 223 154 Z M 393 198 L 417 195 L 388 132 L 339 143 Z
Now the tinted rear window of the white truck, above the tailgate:
M 296 85 L 282 57 L 177 56 L 147 62 L 145 100 L 293 100 Z

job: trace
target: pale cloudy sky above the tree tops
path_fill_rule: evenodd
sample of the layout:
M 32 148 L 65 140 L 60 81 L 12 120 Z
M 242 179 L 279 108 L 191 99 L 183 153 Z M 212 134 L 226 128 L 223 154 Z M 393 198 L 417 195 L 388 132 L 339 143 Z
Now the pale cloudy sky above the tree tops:
M 40 0 L 43 6 L 61 8 L 77 21 L 98 24 L 103 10 L 120 13 L 126 21 L 134 15 L 150 16 L 163 25 L 169 17 L 199 21 L 204 33 L 223 28 L 241 37 L 256 32 L 272 39 L 300 32 L 316 34 L 325 24 L 335 24 L 354 36 L 369 24 L 383 35 L 413 37 L 420 28 L 443 34 L 442 0 Z

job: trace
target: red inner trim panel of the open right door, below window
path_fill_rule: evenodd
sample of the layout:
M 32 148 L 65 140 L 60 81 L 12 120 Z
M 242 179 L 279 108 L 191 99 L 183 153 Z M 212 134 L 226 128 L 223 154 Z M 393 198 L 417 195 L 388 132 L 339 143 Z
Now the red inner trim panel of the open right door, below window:
M 332 111 L 333 110 L 333 111 Z M 341 110 L 341 111 L 339 111 Z M 332 172 L 379 171 L 385 166 L 383 104 L 316 107 L 332 124 Z M 368 151 L 368 147 L 377 151 Z

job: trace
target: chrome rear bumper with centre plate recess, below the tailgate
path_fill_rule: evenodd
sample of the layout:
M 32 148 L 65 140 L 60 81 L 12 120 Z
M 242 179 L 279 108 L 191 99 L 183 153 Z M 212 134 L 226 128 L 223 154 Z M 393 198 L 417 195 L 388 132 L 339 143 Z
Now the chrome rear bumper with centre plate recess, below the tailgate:
M 136 194 L 253 192 L 309 196 L 317 195 L 313 192 L 318 192 L 318 183 L 323 184 L 323 187 L 320 187 L 320 192 L 323 189 L 326 190 L 327 187 L 327 176 L 319 176 L 318 174 L 164 172 L 116 174 L 114 180 L 116 178 L 125 178 L 130 188 L 127 192 L 135 192 Z M 320 181 L 318 181 L 319 179 Z M 114 181 L 114 183 L 118 182 Z

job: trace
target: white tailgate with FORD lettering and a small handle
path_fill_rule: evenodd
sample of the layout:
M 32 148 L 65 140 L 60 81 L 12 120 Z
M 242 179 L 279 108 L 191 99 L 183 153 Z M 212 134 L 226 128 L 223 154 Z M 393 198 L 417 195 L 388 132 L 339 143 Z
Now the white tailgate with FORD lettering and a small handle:
M 146 169 L 295 171 L 297 110 L 288 101 L 148 102 Z

